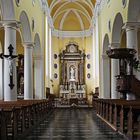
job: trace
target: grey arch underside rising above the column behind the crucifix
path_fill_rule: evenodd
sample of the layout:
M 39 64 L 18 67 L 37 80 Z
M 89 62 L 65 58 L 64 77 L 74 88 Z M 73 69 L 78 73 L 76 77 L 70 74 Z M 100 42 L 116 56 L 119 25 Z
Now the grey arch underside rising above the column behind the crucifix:
M 14 4 L 12 0 L 0 0 L 2 19 L 15 20 Z

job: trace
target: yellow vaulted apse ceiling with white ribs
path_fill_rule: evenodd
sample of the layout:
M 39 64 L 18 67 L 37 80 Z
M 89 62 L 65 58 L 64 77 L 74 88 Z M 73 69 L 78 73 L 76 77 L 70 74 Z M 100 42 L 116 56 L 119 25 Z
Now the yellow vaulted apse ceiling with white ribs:
M 96 0 L 47 0 L 55 29 L 84 31 L 90 28 Z

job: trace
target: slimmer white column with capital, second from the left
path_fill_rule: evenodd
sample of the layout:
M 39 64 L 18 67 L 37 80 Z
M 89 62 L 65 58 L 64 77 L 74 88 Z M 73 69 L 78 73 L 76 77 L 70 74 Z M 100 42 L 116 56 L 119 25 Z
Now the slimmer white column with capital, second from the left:
M 24 99 L 33 99 L 33 43 L 24 44 Z

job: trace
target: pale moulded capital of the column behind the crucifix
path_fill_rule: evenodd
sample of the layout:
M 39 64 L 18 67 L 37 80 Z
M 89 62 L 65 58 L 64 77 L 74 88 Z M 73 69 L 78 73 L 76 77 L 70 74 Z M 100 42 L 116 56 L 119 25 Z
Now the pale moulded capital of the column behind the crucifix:
M 20 28 L 21 23 L 17 20 L 2 20 L 0 21 L 0 27 L 9 27 L 9 28 Z

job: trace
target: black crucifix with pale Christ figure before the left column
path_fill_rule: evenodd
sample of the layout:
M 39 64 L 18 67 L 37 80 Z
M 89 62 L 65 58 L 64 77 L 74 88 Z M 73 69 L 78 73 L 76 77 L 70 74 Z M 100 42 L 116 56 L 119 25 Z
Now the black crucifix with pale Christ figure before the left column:
M 14 48 L 11 44 L 9 45 L 8 50 L 9 50 L 9 55 L 5 55 L 1 53 L 0 58 L 1 59 L 6 58 L 9 60 L 9 78 L 10 78 L 9 87 L 10 89 L 13 89 L 13 87 L 15 86 L 13 83 L 13 61 L 17 57 L 17 55 L 13 55 Z

